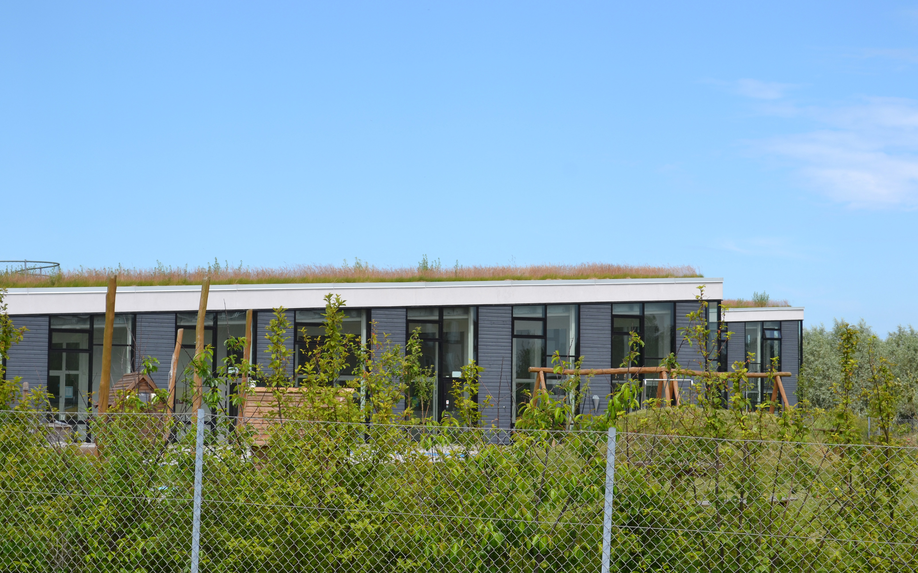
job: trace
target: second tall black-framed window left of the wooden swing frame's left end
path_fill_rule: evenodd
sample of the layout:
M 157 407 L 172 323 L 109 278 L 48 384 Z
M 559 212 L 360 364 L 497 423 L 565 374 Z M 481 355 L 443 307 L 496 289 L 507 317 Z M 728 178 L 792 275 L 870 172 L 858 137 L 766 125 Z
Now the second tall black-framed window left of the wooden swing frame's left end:
M 453 381 L 461 380 L 462 368 L 476 359 L 476 310 L 474 306 L 408 309 L 408 336 L 416 330 L 420 335 L 420 366 L 433 371 L 430 401 L 411 397 L 416 417 L 440 420 L 442 413 L 455 410 Z

